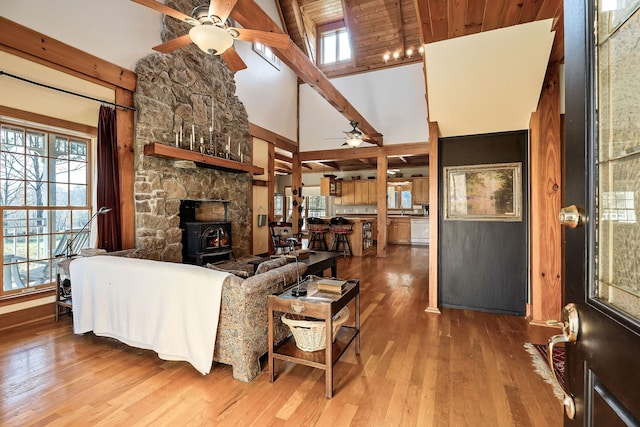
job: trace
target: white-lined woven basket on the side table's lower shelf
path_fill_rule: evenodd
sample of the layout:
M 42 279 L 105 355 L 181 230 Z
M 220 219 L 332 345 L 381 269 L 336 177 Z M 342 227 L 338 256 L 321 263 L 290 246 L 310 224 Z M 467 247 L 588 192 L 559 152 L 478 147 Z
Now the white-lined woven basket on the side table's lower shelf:
M 296 347 L 302 351 L 318 351 L 327 347 L 327 329 L 324 320 L 299 319 L 295 314 L 284 314 L 282 323 L 289 326 L 296 340 Z M 349 307 L 344 307 L 333 318 L 333 339 L 340 327 L 349 318 Z

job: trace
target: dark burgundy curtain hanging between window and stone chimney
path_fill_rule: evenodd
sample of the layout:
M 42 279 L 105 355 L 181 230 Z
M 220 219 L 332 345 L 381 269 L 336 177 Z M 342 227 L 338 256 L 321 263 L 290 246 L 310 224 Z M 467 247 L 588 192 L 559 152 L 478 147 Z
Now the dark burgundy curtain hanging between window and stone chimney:
M 120 174 L 118 169 L 118 141 L 116 110 L 101 106 L 98 118 L 98 208 L 106 206 L 111 212 L 98 215 L 98 248 L 108 252 L 122 249 L 120 239 Z

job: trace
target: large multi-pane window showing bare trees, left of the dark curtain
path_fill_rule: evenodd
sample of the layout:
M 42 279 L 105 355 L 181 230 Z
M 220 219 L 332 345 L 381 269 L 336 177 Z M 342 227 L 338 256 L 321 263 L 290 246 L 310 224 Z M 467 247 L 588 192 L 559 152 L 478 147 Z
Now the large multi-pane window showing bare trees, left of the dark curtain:
M 0 296 L 51 286 L 69 239 L 88 244 L 90 136 L 0 121 Z

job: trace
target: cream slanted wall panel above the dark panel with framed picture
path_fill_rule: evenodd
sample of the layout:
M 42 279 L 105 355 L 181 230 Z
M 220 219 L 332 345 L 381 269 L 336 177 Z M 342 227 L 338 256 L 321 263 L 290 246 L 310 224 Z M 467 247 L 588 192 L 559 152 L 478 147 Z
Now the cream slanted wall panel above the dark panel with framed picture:
M 551 26 L 547 19 L 425 45 L 429 112 L 441 136 L 528 129 Z

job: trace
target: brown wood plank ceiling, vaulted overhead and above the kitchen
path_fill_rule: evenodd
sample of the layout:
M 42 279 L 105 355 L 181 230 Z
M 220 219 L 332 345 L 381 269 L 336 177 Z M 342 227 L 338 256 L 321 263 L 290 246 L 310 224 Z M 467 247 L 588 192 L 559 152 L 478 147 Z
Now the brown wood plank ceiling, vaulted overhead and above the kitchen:
M 563 0 L 278 0 L 285 32 L 327 77 L 406 65 L 422 61 L 422 43 L 491 31 L 553 18 L 556 32 L 550 62 L 564 60 Z M 317 61 L 318 39 L 324 31 L 346 27 L 351 37 L 352 60 L 333 66 Z M 412 53 L 408 54 L 408 50 Z M 394 59 L 394 52 L 398 58 Z M 390 59 L 384 60 L 384 55 Z M 428 156 L 390 158 L 389 168 L 428 163 Z M 283 173 L 290 165 L 281 159 Z M 329 165 L 309 163 L 305 172 L 324 169 L 375 168 L 362 160 Z

